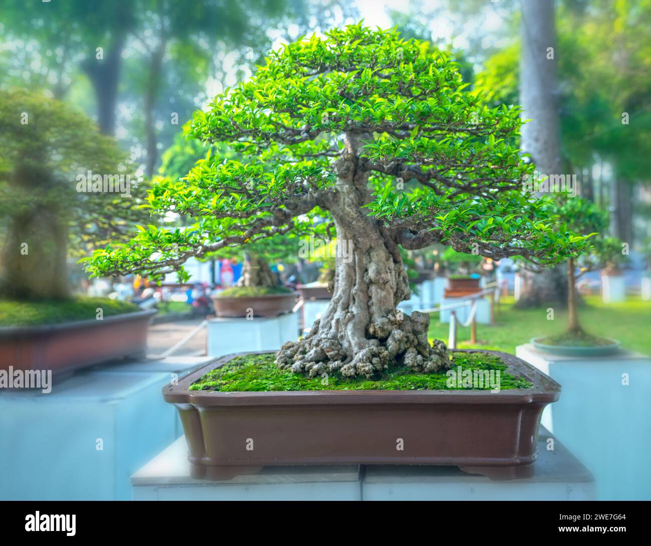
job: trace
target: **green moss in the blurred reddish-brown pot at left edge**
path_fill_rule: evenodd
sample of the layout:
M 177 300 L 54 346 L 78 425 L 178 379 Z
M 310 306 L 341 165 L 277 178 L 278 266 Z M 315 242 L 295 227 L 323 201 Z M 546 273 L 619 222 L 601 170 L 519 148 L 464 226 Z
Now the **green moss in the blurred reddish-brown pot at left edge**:
M 109 298 L 79 297 L 70 300 L 0 300 L 0 326 L 40 326 L 95 320 L 97 309 L 104 317 L 133 313 L 139 307 Z

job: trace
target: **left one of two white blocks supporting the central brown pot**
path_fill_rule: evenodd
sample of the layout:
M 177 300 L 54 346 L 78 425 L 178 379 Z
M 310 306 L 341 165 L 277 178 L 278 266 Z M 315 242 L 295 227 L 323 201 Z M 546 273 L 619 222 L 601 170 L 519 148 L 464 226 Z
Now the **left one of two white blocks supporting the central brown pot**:
M 132 476 L 133 500 L 361 500 L 358 465 L 264 467 L 232 480 L 190 478 L 181 437 Z

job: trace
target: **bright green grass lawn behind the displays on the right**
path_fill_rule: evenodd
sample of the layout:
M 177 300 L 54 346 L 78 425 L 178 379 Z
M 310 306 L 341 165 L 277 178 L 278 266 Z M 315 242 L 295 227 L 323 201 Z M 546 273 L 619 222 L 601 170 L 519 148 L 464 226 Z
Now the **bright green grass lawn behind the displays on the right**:
M 639 296 L 620 304 L 603 304 L 601 296 L 585 296 L 579 308 L 579 321 L 589 334 L 619 339 L 622 348 L 651 354 L 651 302 Z M 432 313 L 430 339 L 447 343 L 449 324 L 439 323 L 439 313 Z M 516 309 L 513 298 L 501 298 L 495 312 L 495 326 L 477 324 L 477 345 L 470 345 L 470 327 L 457 326 L 457 347 L 495 349 L 516 353 L 516 346 L 535 336 L 560 334 L 567 325 L 567 310 L 554 309 L 554 320 L 547 320 L 547 308 Z

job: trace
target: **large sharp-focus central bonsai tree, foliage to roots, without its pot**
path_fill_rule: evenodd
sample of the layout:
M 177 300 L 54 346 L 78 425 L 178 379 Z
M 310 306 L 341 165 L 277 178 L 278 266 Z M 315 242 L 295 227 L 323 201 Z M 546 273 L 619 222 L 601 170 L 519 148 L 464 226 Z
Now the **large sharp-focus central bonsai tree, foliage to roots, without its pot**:
M 547 263 L 587 245 L 553 229 L 544 199 L 522 192 L 533 165 L 514 143 L 519 109 L 488 108 L 465 87 L 447 53 L 395 30 L 351 25 L 284 46 L 191 124 L 193 136 L 249 161 L 213 156 L 152 188 L 152 208 L 195 216 L 197 229 L 143 229 L 96 253 L 90 270 L 169 272 L 190 256 L 309 227 L 305 215 L 320 208 L 337 236 L 333 297 L 309 336 L 277 353 L 278 366 L 344 377 L 449 367 L 445 345 L 428 344 L 428 315 L 396 310 L 409 298 L 400 246 L 445 242 Z M 408 180 L 419 188 L 405 192 Z

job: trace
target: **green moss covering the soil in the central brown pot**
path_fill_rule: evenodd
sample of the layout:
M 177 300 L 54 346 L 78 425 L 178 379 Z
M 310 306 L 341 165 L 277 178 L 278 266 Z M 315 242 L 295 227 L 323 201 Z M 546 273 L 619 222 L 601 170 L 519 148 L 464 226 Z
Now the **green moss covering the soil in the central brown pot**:
M 531 383 L 505 372 L 506 365 L 492 355 L 458 353 L 454 368 L 473 370 L 499 370 L 500 388 L 529 388 Z M 340 379 L 329 377 L 322 384 L 322 377 L 309 379 L 306 375 L 278 369 L 274 354 L 251 354 L 238 356 L 214 369 L 189 386 L 189 390 L 236 391 L 288 391 L 288 390 L 450 390 L 447 375 L 440 373 L 414 373 L 407 367 L 392 369 L 380 379 L 359 377 Z M 490 387 L 489 387 L 490 388 Z

